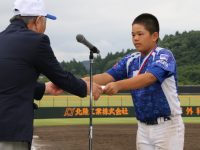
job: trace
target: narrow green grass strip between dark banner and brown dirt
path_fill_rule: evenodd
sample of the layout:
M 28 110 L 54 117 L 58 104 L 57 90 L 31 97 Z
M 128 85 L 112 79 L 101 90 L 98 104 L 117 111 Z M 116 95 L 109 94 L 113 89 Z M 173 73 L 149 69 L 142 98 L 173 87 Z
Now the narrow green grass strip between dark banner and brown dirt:
M 200 123 L 200 117 L 184 117 L 185 123 Z M 136 118 L 93 118 L 93 124 L 136 124 Z M 88 118 L 35 119 L 34 126 L 89 125 Z

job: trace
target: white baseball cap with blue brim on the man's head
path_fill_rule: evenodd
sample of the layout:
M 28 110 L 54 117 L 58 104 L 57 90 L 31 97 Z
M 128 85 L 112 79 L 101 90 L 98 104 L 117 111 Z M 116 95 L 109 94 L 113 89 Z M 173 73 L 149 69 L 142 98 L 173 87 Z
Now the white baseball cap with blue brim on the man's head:
M 47 14 L 43 0 L 15 0 L 14 14 L 21 16 L 45 16 L 56 20 L 56 17 Z

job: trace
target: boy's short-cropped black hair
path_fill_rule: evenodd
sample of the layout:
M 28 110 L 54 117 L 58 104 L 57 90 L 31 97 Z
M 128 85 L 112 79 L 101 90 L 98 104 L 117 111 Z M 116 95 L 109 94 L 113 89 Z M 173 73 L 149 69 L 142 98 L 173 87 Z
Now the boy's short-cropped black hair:
M 144 25 L 144 27 L 151 34 L 153 34 L 154 32 L 159 33 L 159 30 L 160 30 L 158 19 L 154 15 L 148 14 L 148 13 L 144 13 L 144 14 L 137 16 L 135 18 L 135 20 L 133 21 L 132 25 L 134 25 L 134 24 Z

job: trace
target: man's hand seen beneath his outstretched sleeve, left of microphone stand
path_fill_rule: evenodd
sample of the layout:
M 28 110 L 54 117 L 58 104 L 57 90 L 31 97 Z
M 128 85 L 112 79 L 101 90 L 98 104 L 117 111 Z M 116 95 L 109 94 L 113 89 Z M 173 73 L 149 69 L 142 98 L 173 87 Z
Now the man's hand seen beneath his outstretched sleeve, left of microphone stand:
M 57 87 L 52 82 L 46 82 L 45 83 L 45 94 L 51 94 L 51 95 L 59 95 L 62 94 L 64 91 Z

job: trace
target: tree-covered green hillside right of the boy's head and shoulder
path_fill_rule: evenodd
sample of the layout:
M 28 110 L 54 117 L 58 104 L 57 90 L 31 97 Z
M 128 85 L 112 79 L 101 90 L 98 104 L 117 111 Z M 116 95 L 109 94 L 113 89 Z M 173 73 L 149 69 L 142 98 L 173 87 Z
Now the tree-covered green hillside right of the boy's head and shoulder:
M 200 31 L 166 35 L 160 46 L 172 50 L 176 58 L 179 85 L 200 84 Z

